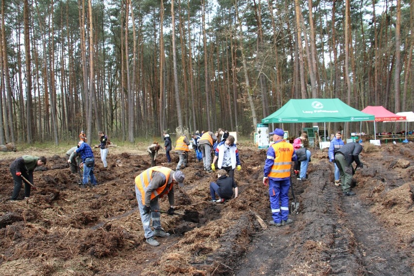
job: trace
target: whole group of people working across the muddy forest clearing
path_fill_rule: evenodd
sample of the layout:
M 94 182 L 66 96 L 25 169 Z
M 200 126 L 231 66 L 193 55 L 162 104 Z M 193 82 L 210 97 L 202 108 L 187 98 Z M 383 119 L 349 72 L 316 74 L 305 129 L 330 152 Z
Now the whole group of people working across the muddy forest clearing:
M 172 150 L 172 141 L 167 132 L 164 135 L 164 149 L 168 164 L 171 164 L 170 151 Z M 273 135 L 273 142 L 267 150 L 266 160 L 263 169 L 263 184 L 269 187 L 270 207 L 272 220 L 270 225 L 282 226 L 292 223 L 289 215 L 289 196 L 288 191 L 291 185 L 291 162 L 294 162 L 294 174 L 298 180 L 306 181 L 307 168 L 311 161 L 311 152 L 307 149 L 307 133 L 302 133 L 300 137 L 294 139 L 290 144 L 283 139 L 284 131 L 276 128 L 270 135 Z M 104 168 L 107 168 L 106 156 L 108 153 L 109 140 L 103 131 L 98 132 L 100 145 L 94 148 L 101 149 L 101 159 Z M 98 185 L 95 175 L 95 159 L 92 148 L 86 143 L 84 131 L 79 135 L 78 145 L 71 148 L 67 153 L 67 160 L 71 173 L 78 172 L 83 166 L 83 187 L 90 183 Z M 145 241 L 157 246 L 159 242 L 155 237 L 168 237 L 170 233 L 164 231 L 161 227 L 158 198 L 163 195 L 168 196 L 170 207 L 167 213 L 174 214 L 174 184 L 184 187 L 185 175 L 181 171 L 187 167 L 187 157 L 190 151 L 189 146 L 195 151 L 201 153 L 204 170 L 207 173 L 217 171 L 217 180 L 210 182 L 209 190 L 212 203 L 224 203 L 233 197 L 238 197 L 238 187 L 234 180 L 235 170 L 241 170 L 239 151 L 237 149 L 235 138 L 229 135 L 223 129 L 216 133 L 211 131 L 197 131 L 192 135 L 191 140 L 186 135 L 181 135 L 176 140 L 174 152 L 178 154 L 179 161 L 175 168 L 156 166 L 156 157 L 160 145 L 154 141 L 148 147 L 151 156 L 151 167 L 141 172 L 135 177 L 135 192 L 138 201 L 138 208 L 144 229 Z M 328 157 L 330 162 L 334 162 L 335 185 L 339 186 L 342 181 L 344 196 L 355 195 L 350 190 L 352 175 L 356 168 L 363 167 L 359 160 L 359 154 L 362 151 L 362 145 L 358 143 L 347 143 L 341 140 L 341 132 L 337 132 L 335 139 L 331 141 Z M 211 154 L 214 154 L 211 162 Z M 17 158 L 10 165 L 10 172 L 14 179 L 14 190 L 11 200 L 17 200 L 22 187 L 22 181 L 25 181 L 25 199 L 30 197 L 33 185 L 33 171 L 35 167 L 46 165 L 44 156 L 23 155 Z M 216 165 L 217 161 L 217 165 Z M 354 169 L 352 163 L 356 162 L 357 167 Z M 234 193 L 233 193 L 234 189 Z M 152 224 L 150 225 L 152 221 Z

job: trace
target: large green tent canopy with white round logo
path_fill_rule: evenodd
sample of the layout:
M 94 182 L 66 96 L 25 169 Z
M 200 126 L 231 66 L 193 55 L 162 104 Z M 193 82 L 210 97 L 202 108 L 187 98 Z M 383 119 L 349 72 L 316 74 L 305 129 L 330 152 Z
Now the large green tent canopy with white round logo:
M 373 121 L 374 115 L 363 113 L 340 99 L 291 99 L 262 123 Z

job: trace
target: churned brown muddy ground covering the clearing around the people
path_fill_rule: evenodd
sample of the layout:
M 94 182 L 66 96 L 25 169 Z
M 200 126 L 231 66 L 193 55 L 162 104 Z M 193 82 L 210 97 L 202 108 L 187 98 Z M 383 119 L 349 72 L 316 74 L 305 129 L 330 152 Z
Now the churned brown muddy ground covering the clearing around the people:
M 110 151 L 108 169 L 96 156 L 100 185 L 86 189 L 64 155 L 47 156 L 46 168 L 34 173 L 37 190 L 18 202 L 9 201 L 14 158 L 1 159 L 0 274 L 413 275 L 413 143 L 362 152 L 353 197 L 332 184 L 327 149 L 312 149 L 309 179 L 293 179 L 300 212 L 281 227 L 261 224 L 271 219 L 262 184 L 266 151 L 239 150 L 240 196 L 225 204 L 209 202 L 216 173 L 189 155 L 185 187 L 175 188 L 176 211 L 198 212 L 200 220 L 162 214 L 171 236 L 157 238 L 158 247 L 145 243 L 136 211 L 133 181 L 149 167 L 148 155 Z M 161 154 L 157 164 L 175 169 L 177 156 L 174 161 L 167 165 Z M 161 207 L 168 208 L 166 198 Z

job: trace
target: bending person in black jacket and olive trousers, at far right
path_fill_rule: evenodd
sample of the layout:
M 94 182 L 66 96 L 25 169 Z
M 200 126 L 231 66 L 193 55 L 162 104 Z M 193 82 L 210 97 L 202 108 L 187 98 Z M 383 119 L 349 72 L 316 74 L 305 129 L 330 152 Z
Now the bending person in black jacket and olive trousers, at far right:
M 359 158 L 361 152 L 362 145 L 355 142 L 347 143 L 335 152 L 335 162 L 341 175 L 342 191 L 345 196 L 356 194 L 349 190 L 351 188 L 352 175 L 354 174 L 352 163 L 355 161 L 357 164 L 355 169 L 358 167 L 363 168 L 363 163 Z

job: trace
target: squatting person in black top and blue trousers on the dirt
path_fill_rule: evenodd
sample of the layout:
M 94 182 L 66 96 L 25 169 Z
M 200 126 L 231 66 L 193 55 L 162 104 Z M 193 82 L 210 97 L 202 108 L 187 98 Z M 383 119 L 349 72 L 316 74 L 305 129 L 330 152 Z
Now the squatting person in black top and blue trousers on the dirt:
M 226 175 L 224 169 L 217 171 L 217 177 L 216 182 L 210 182 L 211 202 L 224 203 L 227 199 L 231 199 L 233 196 L 233 188 L 234 198 L 238 197 L 239 189 L 237 188 L 237 184 L 232 177 Z M 217 200 L 216 194 L 219 196 Z

